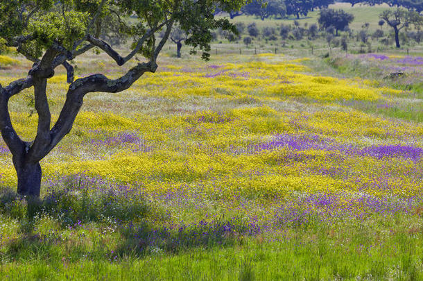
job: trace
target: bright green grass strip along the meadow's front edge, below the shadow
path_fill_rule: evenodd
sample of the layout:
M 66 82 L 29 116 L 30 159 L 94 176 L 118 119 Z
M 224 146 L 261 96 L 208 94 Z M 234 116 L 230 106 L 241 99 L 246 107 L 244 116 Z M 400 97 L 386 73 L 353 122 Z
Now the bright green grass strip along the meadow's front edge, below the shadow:
M 89 244 L 85 237 L 59 244 L 25 237 L 2 253 L 0 278 L 422 280 L 423 232 L 415 223 L 413 217 L 335 225 L 316 222 L 305 229 L 239 237 L 227 246 L 187 245 L 171 253 L 153 248 L 142 255 L 137 246 L 112 252 L 106 250 L 110 246 Z M 119 239 L 113 236 L 104 235 L 103 241 Z M 15 262 L 5 263 L 8 260 Z

